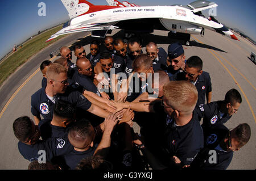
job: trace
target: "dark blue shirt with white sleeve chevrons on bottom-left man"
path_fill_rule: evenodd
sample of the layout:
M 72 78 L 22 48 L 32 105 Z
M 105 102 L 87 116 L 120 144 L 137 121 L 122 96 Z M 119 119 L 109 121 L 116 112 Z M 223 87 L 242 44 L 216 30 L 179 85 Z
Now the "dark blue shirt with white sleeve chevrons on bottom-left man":
M 46 141 L 39 140 L 34 145 L 26 145 L 18 142 L 18 149 L 20 154 L 28 161 L 38 160 L 40 155 L 39 150 L 46 151 L 46 160 L 51 161 L 52 158 L 68 154 L 72 151 L 73 146 L 69 143 L 68 134 L 64 138 L 48 138 Z

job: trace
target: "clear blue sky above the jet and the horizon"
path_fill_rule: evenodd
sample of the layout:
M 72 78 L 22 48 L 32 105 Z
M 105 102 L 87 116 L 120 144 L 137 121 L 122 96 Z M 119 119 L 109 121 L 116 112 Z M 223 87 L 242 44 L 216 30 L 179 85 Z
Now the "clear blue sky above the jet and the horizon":
M 122 0 L 125 1 L 125 0 Z M 120 1 L 120 2 L 122 2 Z M 46 3 L 46 16 L 39 16 L 39 2 Z M 89 0 L 94 5 L 107 5 L 105 0 Z M 140 6 L 156 5 L 187 5 L 193 0 L 133 0 L 129 1 Z M 214 0 L 217 7 L 216 19 L 226 26 L 238 28 L 256 41 L 256 21 L 254 0 Z M 0 58 L 8 53 L 14 44 L 20 44 L 39 30 L 45 30 L 69 19 L 68 12 L 60 0 L 1 0 L 0 7 Z M 205 12 L 208 12 L 206 10 Z

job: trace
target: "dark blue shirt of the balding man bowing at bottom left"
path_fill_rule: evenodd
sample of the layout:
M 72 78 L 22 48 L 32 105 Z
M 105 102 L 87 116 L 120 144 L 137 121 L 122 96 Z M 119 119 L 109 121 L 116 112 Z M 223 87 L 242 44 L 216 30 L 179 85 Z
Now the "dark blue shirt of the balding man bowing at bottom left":
M 76 151 L 73 149 L 71 153 L 64 155 L 65 163 L 70 169 L 74 170 L 80 163 L 81 159 L 93 156 L 95 150 L 95 146 L 90 147 L 86 151 Z

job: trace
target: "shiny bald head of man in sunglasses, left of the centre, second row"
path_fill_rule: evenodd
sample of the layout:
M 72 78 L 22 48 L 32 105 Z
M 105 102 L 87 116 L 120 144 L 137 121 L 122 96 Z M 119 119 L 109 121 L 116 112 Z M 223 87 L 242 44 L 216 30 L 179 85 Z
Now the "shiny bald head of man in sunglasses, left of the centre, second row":
M 87 58 L 79 58 L 76 61 L 77 70 L 80 74 L 90 76 L 93 73 L 92 64 Z

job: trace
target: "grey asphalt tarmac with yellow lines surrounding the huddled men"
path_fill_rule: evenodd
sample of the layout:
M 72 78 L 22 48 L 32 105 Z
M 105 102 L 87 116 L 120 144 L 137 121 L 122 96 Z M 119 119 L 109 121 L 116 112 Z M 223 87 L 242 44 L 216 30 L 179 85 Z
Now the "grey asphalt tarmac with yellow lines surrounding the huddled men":
M 117 30 L 112 33 L 120 36 Z M 167 50 L 168 45 L 175 40 L 167 38 L 167 31 L 154 31 L 150 35 L 143 35 L 144 43 L 155 41 L 158 47 Z M 20 116 L 30 116 L 31 95 L 41 88 L 42 73 L 39 66 L 43 60 L 49 60 L 49 54 L 61 46 L 71 46 L 80 41 L 89 53 L 89 43 L 92 37 L 87 32 L 75 33 L 64 37 L 41 50 L 26 64 L 15 71 L 0 87 L 0 169 L 27 169 L 29 162 L 20 155 L 18 140 L 13 133 L 13 121 Z M 212 80 L 212 101 L 223 100 L 226 92 L 232 88 L 242 95 L 242 104 L 236 114 L 225 125 L 229 129 L 240 123 L 247 123 L 251 127 L 251 138 L 242 149 L 234 153 L 232 163 L 228 169 L 256 169 L 256 119 L 255 119 L 255 87 L 256 65 L 252 62 L 250 52 L 256 52 L 255 45 L 238 36 L 240 41 L 229 39 L 219 33 L 205 30 L 205 35 L 192 35 L 191 46 L 183 45 L 186 59 L 199 56 L 203 60 L 203 70 L 210 73 Z M 54 60 L 53 57 L 52 59 Z M 52 60 L 51 59 L 51 60 Z M 73 62 L 76 57 L 73 54 Z M 135 132 L 139 127 L 134 124 Z

